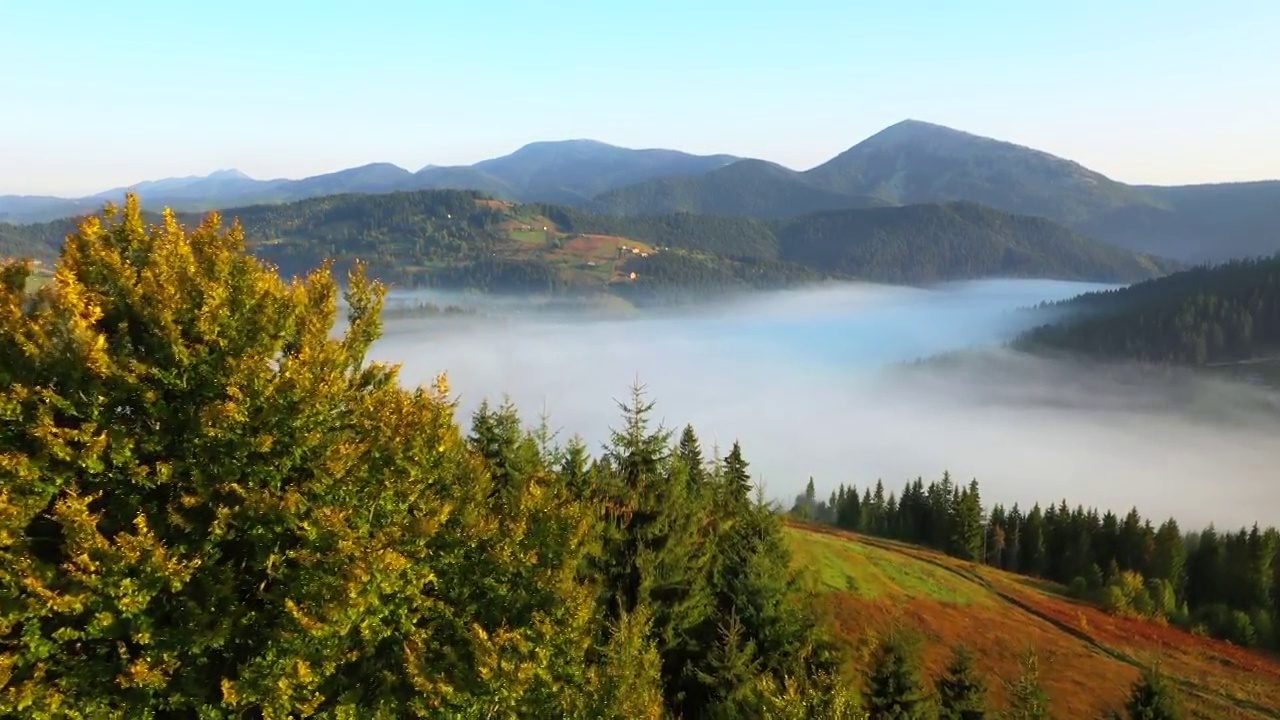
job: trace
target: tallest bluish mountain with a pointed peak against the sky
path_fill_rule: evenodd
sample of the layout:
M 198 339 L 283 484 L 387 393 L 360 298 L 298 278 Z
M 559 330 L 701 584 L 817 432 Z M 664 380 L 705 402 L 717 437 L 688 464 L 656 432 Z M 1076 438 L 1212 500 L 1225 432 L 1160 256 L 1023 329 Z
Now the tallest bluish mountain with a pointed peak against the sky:
M 966 200 L 1061 223 L 1155 202 L 1078 163 L 919 120 L 890 126 L 804 177 L 831 192 L 895 205 Z

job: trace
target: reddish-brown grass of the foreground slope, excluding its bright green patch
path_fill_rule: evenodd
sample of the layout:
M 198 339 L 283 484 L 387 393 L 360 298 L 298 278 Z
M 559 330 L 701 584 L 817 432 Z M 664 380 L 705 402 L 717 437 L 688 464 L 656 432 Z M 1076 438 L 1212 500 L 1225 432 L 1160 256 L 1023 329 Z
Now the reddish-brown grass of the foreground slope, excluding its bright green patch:
M 1157 661 L 1179 687 L 1189 717 L 1280 717 L 1280 662 L 1272 657 L 1167 625 L 1107 615 L 1025 578 L 919 547 L 792 525 L 897 553 L 902 562 L 947 568 L 991 593 L 992 602 L 969 605 L 922 597 L 873 600 L 841 591 L 822 594 L 820 607 L 851 648 L 855 665 L 877 634 L 905 626 L 923 639 L 931 679 L 941 674 L 952 646 L 973 648 L 993 678 L 991 696 L 997 706 L 1007 693 L 995 678 L 1016 678 L 1019 660 L 1034 647 L 1057 717 L 1100 717 L 1120 710 L 1140 669 Z

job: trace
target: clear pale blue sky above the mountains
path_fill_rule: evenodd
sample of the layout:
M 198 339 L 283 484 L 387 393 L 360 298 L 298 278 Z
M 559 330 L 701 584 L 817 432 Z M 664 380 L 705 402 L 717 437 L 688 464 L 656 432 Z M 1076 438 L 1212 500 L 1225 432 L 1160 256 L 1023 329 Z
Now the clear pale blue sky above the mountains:
M 1280 0 L 0 0 L 0 193 L 571 137 L 808 168 L 904 118 L 1275 178 L 1277 31 Z

